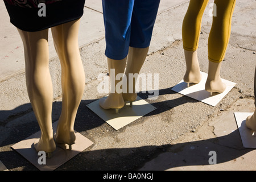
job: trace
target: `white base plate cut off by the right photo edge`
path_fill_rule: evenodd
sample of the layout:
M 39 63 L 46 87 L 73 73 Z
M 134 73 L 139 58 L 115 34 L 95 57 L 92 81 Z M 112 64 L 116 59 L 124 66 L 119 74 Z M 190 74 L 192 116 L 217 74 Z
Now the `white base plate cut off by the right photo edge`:
M 256 148 L 256 134 L 254 134 L 254 131 L 248 129 L 245 125 L 246 118 L 249 115 L 253 115 L 253 113 L 234 113 L 243 147 Z

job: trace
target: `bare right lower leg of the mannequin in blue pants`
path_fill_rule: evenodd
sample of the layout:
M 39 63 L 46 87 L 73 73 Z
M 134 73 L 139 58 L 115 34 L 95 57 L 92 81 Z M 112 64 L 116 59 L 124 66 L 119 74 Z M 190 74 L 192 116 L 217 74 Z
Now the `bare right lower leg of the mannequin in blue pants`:
M 137 98 L 137 93 L 135 90 L 136 80 L 130 80 L 129 74 L 139 74 L 141 71 L 142 65 L 147 57 L 148 48 L 129 48 L 128 58 L 127 58 L 127 66 L 125 75 L 127 78 L 127 90 L 123 93 L 123 100 L 133 102 Z M 133 88 L 133 92 L 129 92 L 129 88 Z

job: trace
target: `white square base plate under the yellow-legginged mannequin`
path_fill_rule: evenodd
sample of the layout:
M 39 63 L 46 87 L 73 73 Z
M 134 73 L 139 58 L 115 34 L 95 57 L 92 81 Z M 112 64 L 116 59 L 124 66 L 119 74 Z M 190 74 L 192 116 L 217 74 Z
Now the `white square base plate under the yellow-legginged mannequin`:
M 229 91 L 236 85 L 236 83 L 222 79 L 222 82 L 226 85 L 226 90 L 222 93 L 213 93 L 212 96 L 205 90 L 205 82 L 207 81 L 207 73 L 201 72 L 202 80 L 198 84 L 190 84 L 184 80 L 181 80 L 175 85 L 172 90 L 185 96 L 194 98 L 195 100 L 204 102 L 205 104 L 216 106 L 218 102 L 222 100 L 229 93 Z

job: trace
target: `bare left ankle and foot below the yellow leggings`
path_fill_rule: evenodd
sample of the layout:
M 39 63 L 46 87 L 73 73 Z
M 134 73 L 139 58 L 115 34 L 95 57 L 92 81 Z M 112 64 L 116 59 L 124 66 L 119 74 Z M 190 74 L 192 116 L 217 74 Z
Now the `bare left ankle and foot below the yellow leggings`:
M 199 67 L 199 61 L 197 59 L 196 51 L 187 51 L 184 49 L 185 61 L 186 61 L 186 73 L 183 80 L 188 83 L 198 84 L 201 81 L 201 73 Z

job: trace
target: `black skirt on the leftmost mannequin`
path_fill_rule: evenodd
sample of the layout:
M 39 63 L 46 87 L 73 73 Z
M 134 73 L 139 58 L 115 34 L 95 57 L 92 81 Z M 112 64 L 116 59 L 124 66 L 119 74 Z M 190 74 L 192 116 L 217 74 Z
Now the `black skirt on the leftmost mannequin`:
M 49 4 L 44 3 L 44 6 L 39 7 L 25 7 L 4 2 L 10 22 L 20 30 L 30 32 L 44 30 L 81 18 L 85 4 L 85 0 L 61 0 Z

